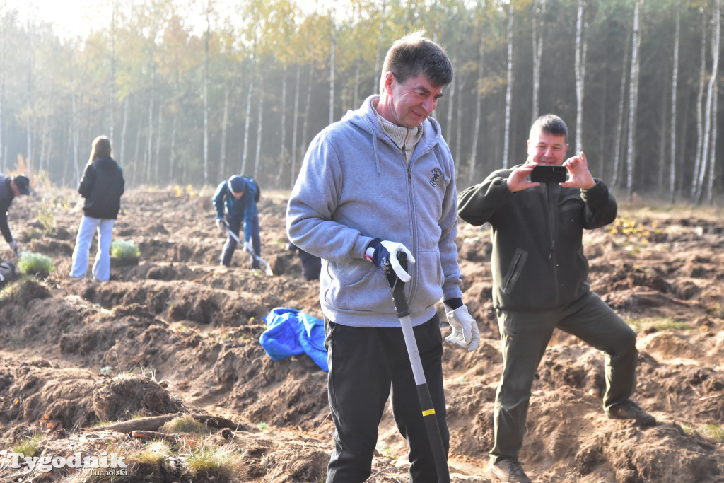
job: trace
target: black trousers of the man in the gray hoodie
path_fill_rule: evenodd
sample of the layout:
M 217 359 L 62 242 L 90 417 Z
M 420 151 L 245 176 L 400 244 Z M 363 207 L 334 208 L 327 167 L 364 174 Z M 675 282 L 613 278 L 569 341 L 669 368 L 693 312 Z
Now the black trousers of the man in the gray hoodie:
M 362 483 L 371 474 L 377 427 L 392 390 L 392 416 L 410 445 L 411 483 L 437 483 L 434 458 L 401 328 L 349 327 L 325 321 L 329 361 L 327 392 L 334 421 L 329 483 Z M 437 314 L 414 327 L 425 378 L 445 445 L 442 335 Z

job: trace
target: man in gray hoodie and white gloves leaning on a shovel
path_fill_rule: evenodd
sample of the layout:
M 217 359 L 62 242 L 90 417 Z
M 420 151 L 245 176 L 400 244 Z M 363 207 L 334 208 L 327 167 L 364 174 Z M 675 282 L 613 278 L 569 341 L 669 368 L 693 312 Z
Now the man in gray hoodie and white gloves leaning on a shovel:
M 410 481 L 437 482 L 400 321 L 379 270 L 388 262 L 406 282 L 426 382 L 449 449 L 435 304 L 444 301 L 453 329 L 448 342 L 474 350 L 480 338 L 460 290 L 452 155 L 429 117 L 451 81 L 445 51 L 424 33 L 393 43 L 381 95 L 316 135 L 290 196 L 290 240 L 322 259 L 319 299 L 335 427 L 329 483 L 363 482 L 371 474 L 390 389 L 397 428 L 410 445 Z M 400 252 L 408 271 L 397 260 Z

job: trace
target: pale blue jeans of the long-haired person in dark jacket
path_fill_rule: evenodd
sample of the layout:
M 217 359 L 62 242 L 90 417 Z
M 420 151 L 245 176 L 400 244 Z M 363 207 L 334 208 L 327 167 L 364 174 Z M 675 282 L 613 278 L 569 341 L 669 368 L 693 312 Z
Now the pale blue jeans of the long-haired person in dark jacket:
M 83 215 L 78 227 L 78 236 L 75 239 L 73 250 L 73 265 L 70 276 L 85 277 L 88 272 L 88 252 L 93 235 L 98 232 L 98 252 L 93 262 L 93 278 L 105 282 L 111 276 L 111 238 L 113 236 L 114 219 L 91 218 Z

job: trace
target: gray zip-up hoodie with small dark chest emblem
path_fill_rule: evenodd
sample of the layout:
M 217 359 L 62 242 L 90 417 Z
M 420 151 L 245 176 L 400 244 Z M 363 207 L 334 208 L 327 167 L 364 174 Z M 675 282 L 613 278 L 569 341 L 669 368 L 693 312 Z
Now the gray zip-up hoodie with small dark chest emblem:
M 324 315 L 358 327 L 400 327 L 386 277 L 363 255 L 374 238 L 403 243 L 416 261 L 405 294 L 419 325 L 437 301 L 462 297 L 452 155 L 429 117 L 408 165 L 375 117 L 377 99 L 312 140 L 287 206 L 287 235 L 322 259 Z

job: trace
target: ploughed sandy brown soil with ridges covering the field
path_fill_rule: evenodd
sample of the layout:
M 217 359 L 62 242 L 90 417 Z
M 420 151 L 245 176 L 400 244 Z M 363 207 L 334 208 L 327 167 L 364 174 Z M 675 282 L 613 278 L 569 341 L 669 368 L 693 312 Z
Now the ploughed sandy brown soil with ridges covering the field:
M 209 438 L 243 453 L 235 481 L 323 482 L 333 430 L 326 373 L 308 356 L 274 362 L 258 343 L 271 308 L 321 317 L 319 282 L 303 280 L 285 251 L 285 196 L 265 192 L 260 203 L 262 256 L 274 270 L 267 277 L 238 252 L 235 266 L 218 266 L 223 238 L 211 193 L 127 193 L 114 238 L 138 244 L 140 263 L 114 266 L 111 280 L 98 283 L 67 277 L 79 198 L 49 194 L 51 235 L 43 234 L 38 198 L 20 198 L 10 212 L 22 248 L 50 256 L 57 269 L 0 297 L 0 465 L 12 445 L 38 432 L 42 455 L 98 454 L 146 442 L 98 421 L 187 413 L 205 421 Z M 538 371 L 521 453 L 534 481 L 724 482 L 724 443 L 711 432 L 724 422 L 720 215 L 628 206 L 621 220 L 636 224 L 619 230 L 628 233 L 586 234 L 593 289 L 639 332 L 635 398 L 660 424 L 607 419 L 602 355 L 557 332 Z M 0 256 L 9 258 L 3 246 Z M 487 230 L 460 224 L 458 246 L 481 345 L 474 353 L 445 347 L 450 473 L 452 482 L 487 482 L 502 366 Z M 407 481 L 405 448 L 386 413 L 370 481 Z M 3 481 L 81 478 L 67 468 L 28 474 L 4 464 Z M 191 481 L 174 461 L 129 468 L 122 481 Z

